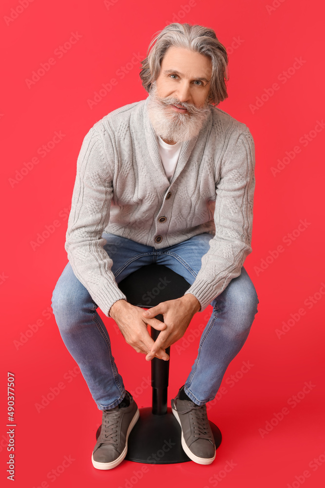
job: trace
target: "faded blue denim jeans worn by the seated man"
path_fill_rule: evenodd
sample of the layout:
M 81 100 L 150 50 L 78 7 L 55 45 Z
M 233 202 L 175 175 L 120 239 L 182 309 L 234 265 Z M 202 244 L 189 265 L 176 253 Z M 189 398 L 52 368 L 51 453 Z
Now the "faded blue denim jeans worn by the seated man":
M 105 251 L 113 260 L 118 284 L 147 264 L 164 264 L 192 285 L 209 250 L 212 235 L 205 233 L 161 249 L 130 239 L 103 234 Z M 213 400 L 230 361 L 243 347 L 259 303 L 244 266 L 211 305 L 210 319 L 202 332 L 198 354 L 185 382 L 185 392 L 197 405 Z M 52 296 L 52 309 L 63 342 L 80 367 L 99 410 L 113 408 L 126 390 L 112 355 L 110 337 L 88 290 L 65 266 Z

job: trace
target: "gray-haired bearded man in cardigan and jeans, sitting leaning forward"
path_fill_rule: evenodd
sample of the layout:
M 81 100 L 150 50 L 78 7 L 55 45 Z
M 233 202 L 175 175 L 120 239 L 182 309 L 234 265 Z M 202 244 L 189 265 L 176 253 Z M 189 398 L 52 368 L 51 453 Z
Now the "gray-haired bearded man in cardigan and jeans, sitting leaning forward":
M 259 303 L 243 266 L 252 250 L 254 142 L 244 123 L 216 107 L 228 97 L 227 64 L 212 29 L 166 26 L 142 61 L 148 97 L 110 112 L 82 142 L 65 244 L 69 262 L 52 307 L 102 410 L 92 453 L 98 469 L 122 462 L 139 417 L 98 306 L 150 361 L 169 360 L 166 348 L 196 312 L 212 305 L 172 412 L 186 454 L 205 465 L 215 458 L 206 403 L 244 345 Z M 152 263 L 170 267 L 190 287 L 183 297 L 143 311 L 127 302 L 118 283 Z M 147 325 L 160 330 L 155 342 Z

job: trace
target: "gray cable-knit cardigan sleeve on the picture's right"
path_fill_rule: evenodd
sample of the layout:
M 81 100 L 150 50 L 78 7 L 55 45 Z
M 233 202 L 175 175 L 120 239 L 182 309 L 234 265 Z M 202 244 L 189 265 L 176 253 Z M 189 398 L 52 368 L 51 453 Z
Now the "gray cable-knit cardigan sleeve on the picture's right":
M 194 283 L 186 291 L 193 294 L 203 311 L 240 275 L 252 251 L 253 196 L 255 189 L 255 146 L 249 128 L 241 132 L 231 155 L 224 155 L 220 180 L 216 184 L 215 236 L 202 257 Z

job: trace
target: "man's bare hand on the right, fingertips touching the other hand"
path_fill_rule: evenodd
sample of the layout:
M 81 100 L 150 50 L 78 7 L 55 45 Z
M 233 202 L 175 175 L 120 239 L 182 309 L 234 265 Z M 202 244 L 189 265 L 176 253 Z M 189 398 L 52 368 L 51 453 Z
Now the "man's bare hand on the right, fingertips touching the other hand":
M 181 298 L 162 302 L 142 312 L 143 317 L 147 318 L 146 320 L 149 325 L 154 326 L 156 319 L 150 317 L 155 317 L 158 314 L 164 316 L 163 323 L 166 325 L 164 329 L 160 329 L 161 332 L 153 344 L 150 353 L 146 356 L 146 359 L 150 361 L 159 350 L 167 349 L 167 347 L 172 346 L 178 339 L 183 337 L 193 315 L 200 308 L 201 305 L 197 298 L 191 293 L 187 293 Z

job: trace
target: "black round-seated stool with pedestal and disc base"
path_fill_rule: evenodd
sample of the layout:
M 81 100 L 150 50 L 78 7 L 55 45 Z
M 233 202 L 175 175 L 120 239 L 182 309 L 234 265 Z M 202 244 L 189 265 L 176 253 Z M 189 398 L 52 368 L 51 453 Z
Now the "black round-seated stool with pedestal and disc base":
M 149 264 L 131 273 L 118 284 L 118 287 L 132 305 L 151 308 L 161 302 L 182 297 L 190 284 L 167 266 Z M 162 314 L 156 315 L 155 318 L 164 321 Z M 154 341 L 159 332 L 151 327 L 151 337 Z M 166 349 L 166 353 L 170 356 L 170 347 Z M 146 464 L 191 461 L 181 445 L 181 427 L 172 414 L 172 408 L 167 407 L 169 363 L 170 361 L 158 358 L 151 361 L 153 405 L 139 409 L 140 417 L 128 439 L 125 459 L 129 461 Z M 210 427 L 215 446 L 218 448 L 221 444 L 221 432 L 212 422 Z M 96 438 L 99 436 L 100 428 L 97 430 Z

